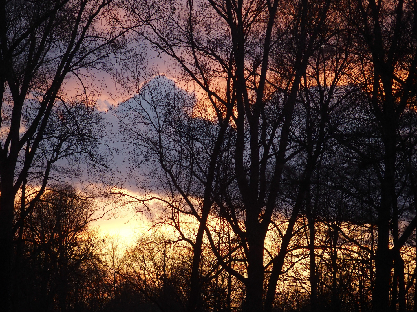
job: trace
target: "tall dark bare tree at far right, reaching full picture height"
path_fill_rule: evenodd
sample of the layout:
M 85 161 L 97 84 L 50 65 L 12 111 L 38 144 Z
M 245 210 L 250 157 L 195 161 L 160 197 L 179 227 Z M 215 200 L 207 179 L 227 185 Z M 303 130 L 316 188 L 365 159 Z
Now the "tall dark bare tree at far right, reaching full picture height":
M 359 66 L 351 75 L 367 97 L 367 107 L 355 117 L 360 116 L 356 122 L 361 134 L 350 146 L 362 170 L 362 186 L 368 180 L 367 189 L 373 192 L 372 197 L 362 197 L 374 209 L 371 222 L 377 225 L 373 310 L 388 311 L 393 261 L 393 282 L 397 284 L 397 277 L 402 276 L 399 250 L 417 221 L 404 211 L 414 201 L 404 193 L 412 176 L 404 166 L 409 162 L 408 149 L 414 150 L 414 117 L 407 121 L 407 116 L 415 97 L 417 73 L 416 6 L 407 1 L 352 1 L 349 11 L 343 12 L 356 16 Z M 357 192 L 353 196 L 361 197 L 362 191 Z M 403 297 L 404 286 L 400 288 Z M 392 305 L 396 306 L 397 285 L 393 285 L 394 297 Z

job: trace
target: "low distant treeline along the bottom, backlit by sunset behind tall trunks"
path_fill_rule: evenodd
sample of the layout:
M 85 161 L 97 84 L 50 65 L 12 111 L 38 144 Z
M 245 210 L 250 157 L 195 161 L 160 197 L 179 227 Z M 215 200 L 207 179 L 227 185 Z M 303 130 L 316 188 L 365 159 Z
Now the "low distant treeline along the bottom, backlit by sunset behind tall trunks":
M 85 194 L 65 185 L 45 192 L 35 205 L 17 246 L 16 311 L 186 310 L 191 293 L 190 245 L 162 223 L 154 224 L 133 246 L 124 245 L 122 238 L 103 238 L 91 223 L 94 209 Z M 224 261 L 246 274 L 239 239 L 226 218 L 213 216 L 208 224 L 215 245 L 223 247 L 219 250 L 233 253 Z M 279 251 L 279 232 L 286 230 L 288 219 L 278 216 L 274 224 L 276 231 L 266 239 L 268 253 Z M 311 310 L 313 249 L 317 309 L 371 311 L 375 225 L 323 215 L 315 225 L 313 248 L 306 216 L 299 216 L 296 228 L 277 285 L 274 310 Z M 193 231 L 195 224 L 181 230 Z M 413 237 L 401 250 L 403 272 L 392 272 L 392 286 L 397 285 L 399 292 L 390 300 L 404 311 L 414 309 L 415 248 Z M 266 276 L 272 273 L 266 270 Z M 202 244 L 199 287 L 198 310 L 241 311 L 244 306 L 244 283 L 222 268 L 208 240 Z

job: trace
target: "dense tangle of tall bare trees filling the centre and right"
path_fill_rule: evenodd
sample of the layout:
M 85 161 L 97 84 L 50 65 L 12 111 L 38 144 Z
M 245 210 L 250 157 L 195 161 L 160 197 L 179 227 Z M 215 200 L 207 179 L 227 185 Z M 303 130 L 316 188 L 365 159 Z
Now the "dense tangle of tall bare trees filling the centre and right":
M 416 3 L 190 0 L 124 8 L 146 25 L 138 37 L 177 64 L 176 79 L 202 94 L 181 96 L 146 75 L 143 85 L 129 83 L 138 71 L 122 80 L 137 86 L 120 120 L 133 173 L 142 174 L 138 186 L 149 194 L 142 202 L 167 206 L 165 222 L 192 250 L 186 310 L 203 308 L 203 289 L 215 278 L 201 272 L 204 240 L 215 267 L 244 288 L 243 311 L 274 310 L 284 275 L 306 259 L 308 282 L 299 287 L 311 310 L 324 302 L 325 261 L 332 310 L 348 302 L 359 309 L 357 295 L 342 295 L 345 250 L 368 270 L 360 309 L 406 309 L 402 252 L 415 244 L 417 223 Z

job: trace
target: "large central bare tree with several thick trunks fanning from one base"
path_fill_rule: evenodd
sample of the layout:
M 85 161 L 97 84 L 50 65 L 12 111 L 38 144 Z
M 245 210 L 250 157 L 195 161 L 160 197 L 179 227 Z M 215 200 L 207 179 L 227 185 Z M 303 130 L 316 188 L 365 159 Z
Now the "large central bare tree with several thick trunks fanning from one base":
M 177 6 L 161 2 L 158 8 L 147 2 L 127 2 L 126 8 L 132 18 L 148 25 L 138 35 L 175 60 L 184 77 L 203 90 L 213 115 L 224 120 L 224 115 L 231 114 L 235 141 L 229 165 L 233 171 L 224 169 L 230 175 L 223 176 L 223 189 L 225 193 L 228 181 L 236 181 L 233 187 L 239 193 L 233 191 L 236 206 L 223 201 L 220 194 L 216 204 L 231 213 L 230 223 L 246 257 L 247 277 L 225 262 L 223 267 L 246 285 L 245 309 L 262 310 L 264 242 L 290 153 L 300 82 L 317 47 L 332 37 L 334 25 L 327 17 L 334 7 L 331 1 L 277 0 L 188 1 Z M 309 181 L 313 168 L 314 161 L 303 181 Z M 301 184 L 291 224 L 304 202 L 308 182 Z M 273 261 L 266 310 L 272 307 L 291 226 L 287 233 L 279 260 Z M 208 230 L 206 234 L 209 238 Z M 223 261 L 219 253 L 217 257 Z

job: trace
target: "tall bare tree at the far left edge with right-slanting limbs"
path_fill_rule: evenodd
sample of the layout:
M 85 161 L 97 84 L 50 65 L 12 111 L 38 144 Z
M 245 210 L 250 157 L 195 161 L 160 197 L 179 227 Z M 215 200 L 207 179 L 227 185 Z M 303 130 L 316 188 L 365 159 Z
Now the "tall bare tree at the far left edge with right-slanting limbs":
M 85 94 L 88 69 L 109 68 L 108 57 L 117 51 L 124 32 L 112 23 L 117 12 L 111 0 L 3 1 L 0 5 L 0 303 L 6 311 L 10 310 L 13 238 L 19 227 L 13 224 L 16 194 L 21 191 L 25 198 L 28 181 L 37 176 L 30 190 L 35 192 L 31 199 L 37 201 L 61 156 L 81 151 L 94 154 L 94 149 L 88 151 L 92 145 L 87 141 L 97 142 L 98 133 L 83 129 L 75 112 L 84 109 L 81 104 L 86 98 L 81 97 L 78 108 L 70 108 L 63 84 L 70 74 L 84 83 Z M 62 123 L 64 128 L 70 126 L 70 133 L 59 133 L 61 126 L 52 131 L 62 119 L 70 121 Z M 88 139 L 80 136 L 85 130 L 90 131 Z M 20 225 L 31 208 L 33 204 L 23 202 Z

